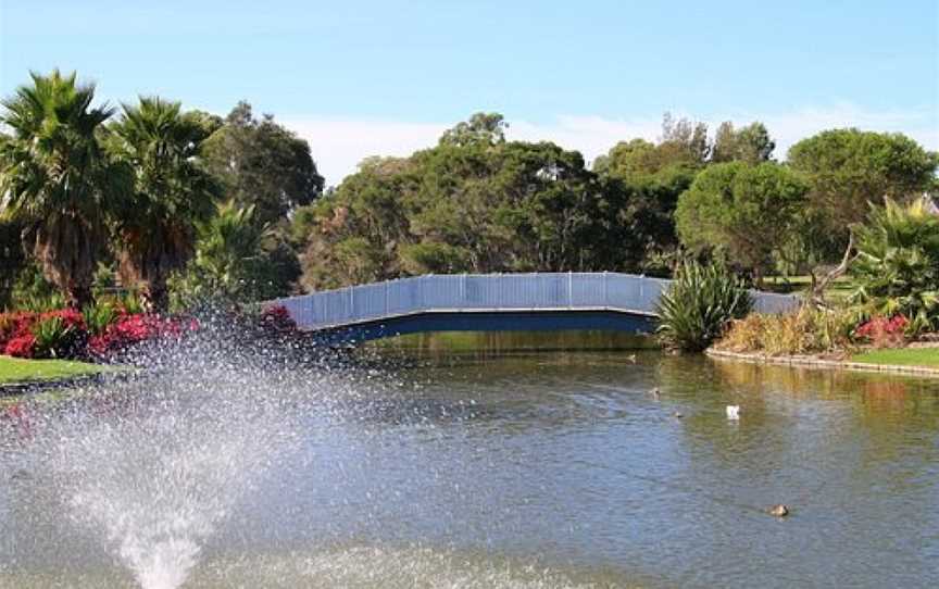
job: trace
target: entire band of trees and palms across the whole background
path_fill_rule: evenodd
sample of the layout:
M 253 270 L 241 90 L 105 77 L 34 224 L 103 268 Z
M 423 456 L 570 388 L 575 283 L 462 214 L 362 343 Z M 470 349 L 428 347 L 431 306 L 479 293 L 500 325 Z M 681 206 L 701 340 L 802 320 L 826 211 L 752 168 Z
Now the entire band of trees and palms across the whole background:
M 325 190 L 306 141 L 247 103 L 223 118 L 92 102 L 53 72 L 2 103 L 0 305 L 85 304 L 114 276 L 164 308 L 423 273 L 667 274 L 688 256 L 760 281 L 837 262 L 869 206 L 935 190 L 939 165 L 909 137 L 857 129 L 778 163 L 762 123 L 712 136 L 666 114 L 656 142 L 624 138 L 588 167 L 478 113 Z

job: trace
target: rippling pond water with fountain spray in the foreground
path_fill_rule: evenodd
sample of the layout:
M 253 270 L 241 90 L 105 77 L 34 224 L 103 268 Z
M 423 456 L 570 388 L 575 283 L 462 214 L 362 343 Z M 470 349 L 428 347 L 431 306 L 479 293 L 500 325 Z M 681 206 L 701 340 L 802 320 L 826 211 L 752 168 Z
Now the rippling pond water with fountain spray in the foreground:
M 8 408 L 0 586 L 939 585 L 939 381 L 435 350 Z

